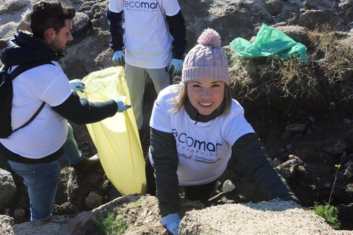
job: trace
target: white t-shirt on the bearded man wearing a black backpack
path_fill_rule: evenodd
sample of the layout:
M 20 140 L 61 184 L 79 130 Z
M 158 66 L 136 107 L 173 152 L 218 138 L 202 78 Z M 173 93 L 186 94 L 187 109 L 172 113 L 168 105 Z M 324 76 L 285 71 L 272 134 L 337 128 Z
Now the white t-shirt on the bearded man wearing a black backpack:
M 16 129 L 33 116 L 43 101 L 46 105 L 26 127 L 0 142 L 21 156 L 38 159 L 55 153 L 64 144 L 68 121 L 51 106 L 62 104 L 72 93 L 69 80 L 58 63 L 34 67 L 13 81 L 11 126 Z M 16 66 L 13 66 L 14 69 Z

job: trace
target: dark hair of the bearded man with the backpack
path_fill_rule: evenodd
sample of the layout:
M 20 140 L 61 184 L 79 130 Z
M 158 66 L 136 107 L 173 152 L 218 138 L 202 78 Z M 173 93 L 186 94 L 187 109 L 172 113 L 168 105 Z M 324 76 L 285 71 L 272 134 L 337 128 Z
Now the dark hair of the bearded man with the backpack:
M 44 39 L 45 31 L 50 28 L 59 32 L 65 27 L 65 19 L 73 19 L 75 13 L 74 7 L 66 6 L 58 1 L 40 1 L 34 4 L 30 12 L 33 36 Z

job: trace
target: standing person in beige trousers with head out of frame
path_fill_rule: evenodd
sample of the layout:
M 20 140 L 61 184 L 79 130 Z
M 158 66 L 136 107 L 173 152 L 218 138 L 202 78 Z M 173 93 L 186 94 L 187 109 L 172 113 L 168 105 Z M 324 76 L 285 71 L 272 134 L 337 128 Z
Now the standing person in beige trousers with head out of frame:
M 147 74 L 159 93 L 169 86 L 170 74 L 181 72 L 187 44 L 185 20 L 177 0 L 111 0 L 107 18 L 111 32 L 109 45 L 114 51 L 113 62 L 125 66 L 127 87 L 140 138 L 145 139 L 141 128 Z

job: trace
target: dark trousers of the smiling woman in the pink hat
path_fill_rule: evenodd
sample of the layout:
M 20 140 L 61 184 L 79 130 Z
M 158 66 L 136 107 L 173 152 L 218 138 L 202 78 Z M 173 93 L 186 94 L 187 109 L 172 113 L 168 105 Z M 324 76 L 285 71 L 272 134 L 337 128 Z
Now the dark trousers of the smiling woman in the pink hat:
M 146 159 L 145 164 L 146 171 L 146 181 L 147 181 L 147 194 L 151 196 L 156 196 L 156 180 L 155 175 L 153 174 L 155 170 L 153 170 L 151 162 L 149 161 L 149 157 Z M 193 186 L 184 186 L 185 189 L 185 198 L 192 201 L 202 201 L 206 202 L 214 189 L 216 184 L 216 180 L 201 184 L 201 185 L 193 185 Z

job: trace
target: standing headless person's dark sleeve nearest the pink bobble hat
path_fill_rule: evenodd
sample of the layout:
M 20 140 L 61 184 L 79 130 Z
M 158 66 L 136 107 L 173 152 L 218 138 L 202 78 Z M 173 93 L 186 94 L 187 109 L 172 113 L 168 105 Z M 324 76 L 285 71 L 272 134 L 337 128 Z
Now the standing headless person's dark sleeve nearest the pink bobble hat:
M 180 10 L 176 15 L 166 16 L 169 32 L 173 36 L 173 49 L 175 59 L 183 59 L 183 55 L 186 51 L 186 28 L 185 19 Z

